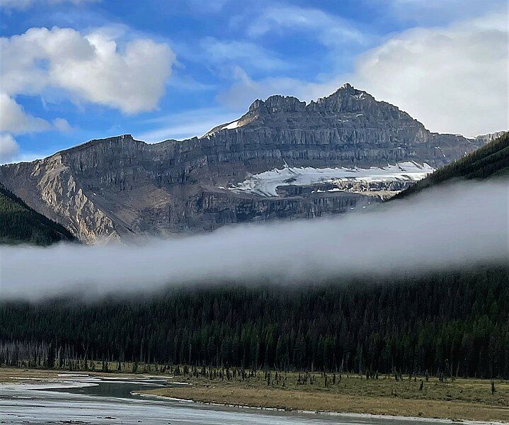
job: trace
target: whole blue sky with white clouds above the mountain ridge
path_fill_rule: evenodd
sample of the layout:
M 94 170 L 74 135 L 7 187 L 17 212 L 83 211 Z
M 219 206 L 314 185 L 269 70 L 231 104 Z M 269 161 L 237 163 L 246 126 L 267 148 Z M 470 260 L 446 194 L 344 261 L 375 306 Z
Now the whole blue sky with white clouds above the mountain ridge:
M 506 130 L 498 0 L 0 0 L 0 162 L 202 135 L 351 81 L 440 132 Z

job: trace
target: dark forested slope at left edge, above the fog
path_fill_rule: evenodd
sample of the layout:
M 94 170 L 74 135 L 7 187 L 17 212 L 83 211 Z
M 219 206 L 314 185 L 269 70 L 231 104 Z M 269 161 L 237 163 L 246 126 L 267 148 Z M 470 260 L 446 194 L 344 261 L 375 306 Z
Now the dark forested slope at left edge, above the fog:
M 0 184 L 0 244 L 49 245 L 62 240 L 74 237 Z

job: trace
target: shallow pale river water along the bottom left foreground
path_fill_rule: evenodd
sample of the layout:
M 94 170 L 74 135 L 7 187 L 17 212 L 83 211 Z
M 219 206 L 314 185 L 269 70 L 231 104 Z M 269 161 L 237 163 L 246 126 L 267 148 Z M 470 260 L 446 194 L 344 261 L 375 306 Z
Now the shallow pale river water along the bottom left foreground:
M 450 421 L 395 419 L 220 407 L 142 397 L 136 392 L 164 386 L 161 378 L 97 378 L 62 375 L 58 380 L 0 385 L 0 424 L 171 425 L 424 425 Z M 174 384 L 178 385 L 178 384 Z

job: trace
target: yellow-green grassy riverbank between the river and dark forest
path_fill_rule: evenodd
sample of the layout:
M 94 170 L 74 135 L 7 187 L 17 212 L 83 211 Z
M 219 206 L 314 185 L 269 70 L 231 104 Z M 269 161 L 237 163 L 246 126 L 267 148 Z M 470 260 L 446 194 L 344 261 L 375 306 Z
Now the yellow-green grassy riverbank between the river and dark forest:
M 131 375 L 132 364 L 120 371 L 110 363 L 105 373 L 80 371 L 91 375 Z M 101 363 L 95 365 L 100 370 Z M 0 368 L 0 382 L 30 382 L 58 378 L 62 370 L 23 370 Z M 379 375 L 366 379 L 359 375 L 322 373 L 266 373 L 241 371 L 138 366 L 142 375 L 166 376 L 168 382 L 188 382 L 185 387 L 166 387 L 142 391 L 196 402 L 236 404 L 248 407 L 349 412 L 430 418 L 503 421 L 509 423 L 509 382 L 490 380 L 398 377 Z M 210 378 L 212 376 L 212 378 Z

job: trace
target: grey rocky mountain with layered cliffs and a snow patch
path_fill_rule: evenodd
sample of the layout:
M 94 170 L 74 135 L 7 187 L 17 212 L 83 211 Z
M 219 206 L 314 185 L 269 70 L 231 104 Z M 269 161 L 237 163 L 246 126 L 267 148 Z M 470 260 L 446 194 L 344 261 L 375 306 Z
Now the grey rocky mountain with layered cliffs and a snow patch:
M 345 84 L 308 104 L 290 96 L 254 101 L 238 120 L 189 140 L 91 140 L 1 166 L 0 181 L 79 239 L 97 242 L 345 212 L 379 202 L 480 143 L 431 133 Z M 250 189 L 274 179 L 269 192 Z

